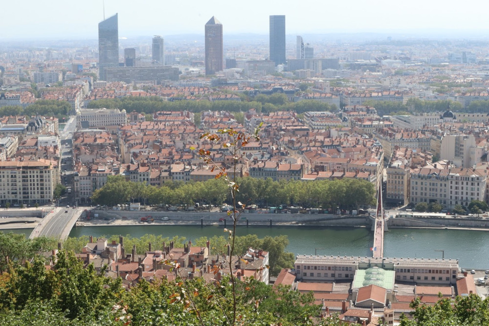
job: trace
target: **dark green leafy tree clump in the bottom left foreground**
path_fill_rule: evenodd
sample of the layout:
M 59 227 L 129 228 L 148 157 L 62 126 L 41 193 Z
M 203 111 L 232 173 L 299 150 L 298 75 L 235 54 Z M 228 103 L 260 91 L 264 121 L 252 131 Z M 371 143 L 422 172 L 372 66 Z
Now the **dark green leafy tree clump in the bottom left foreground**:
M 18 316 L 29 318 L 27 310 L 33 308 L 40 314 L 47 314 L 46 319 L 53 321 L 87 317 L 93 321 L 106 319 L 112 305 L 119 301 L 124 290 L 121 279 L 111 279 L 104 274 L 105 270 L 99 274 L 93 265 L 83 268 L 81 260 L 72 252 L 59 252 L 54 270 L 46 270 L 44 261 L 36 258 L 32 264 L 17 267 L 2 284 L 0 321 L 12 318 L 12 324 L 15 325 Z M 15 314 L 11 314 L 12 311 Z

